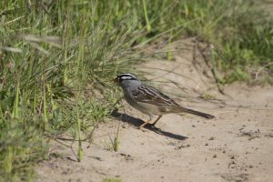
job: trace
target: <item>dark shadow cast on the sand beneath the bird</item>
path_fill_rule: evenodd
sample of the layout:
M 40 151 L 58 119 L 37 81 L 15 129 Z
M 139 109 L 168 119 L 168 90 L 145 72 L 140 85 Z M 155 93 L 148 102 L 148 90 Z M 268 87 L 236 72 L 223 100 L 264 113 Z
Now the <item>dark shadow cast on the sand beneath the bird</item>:
M 144 123 L 143 120 L 133 117 L 133 116 L 128 116 L 126 114 L 122 114 L 122 113 L 118 113 L 117 111 L 113 111 L 111 116 L 114 116 L 116 119 L 122 121 L 122 122 L 126 122 L 129 123 L 130 125 L 136 126 L 137 128 L 142 125 Z M 187 139 L 187 136 L 180 136 L 177 134 L 172 134 L 170 132 L 167 131 L 163 131 L 160 128 L 153 126 L 152 124 L 147 124 L 146 126 L 144 126 L 146 129 L 153 131 L 155 133 L 157 133 L 158 135 L 161 136 L 167 136 L 170 138 L 174 138 L 177 140 L 185 140 Z

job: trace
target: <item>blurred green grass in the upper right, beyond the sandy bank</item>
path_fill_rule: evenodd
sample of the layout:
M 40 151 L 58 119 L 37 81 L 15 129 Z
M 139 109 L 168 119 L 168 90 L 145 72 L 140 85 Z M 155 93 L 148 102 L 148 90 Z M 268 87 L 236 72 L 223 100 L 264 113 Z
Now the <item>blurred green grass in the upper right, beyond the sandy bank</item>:
M 256 1 L 181 1 L 177 8 L 177 21 L 196 20 L 186 34 L 213 45 L 210 59 L 222 84 L 257 81 L 261 67 L 262 79 L 272 77 L 273 18 Z

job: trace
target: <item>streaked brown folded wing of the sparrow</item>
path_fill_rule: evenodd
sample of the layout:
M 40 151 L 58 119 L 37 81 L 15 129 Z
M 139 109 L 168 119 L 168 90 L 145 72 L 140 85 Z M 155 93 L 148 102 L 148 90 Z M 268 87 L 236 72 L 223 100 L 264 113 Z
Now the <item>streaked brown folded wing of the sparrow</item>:
M 157 106 L 179 106 L 173 99 L 162 94 L 156 88 L 151 86 L 138 86 L 132 91 L 136 102 L 148 103 Z

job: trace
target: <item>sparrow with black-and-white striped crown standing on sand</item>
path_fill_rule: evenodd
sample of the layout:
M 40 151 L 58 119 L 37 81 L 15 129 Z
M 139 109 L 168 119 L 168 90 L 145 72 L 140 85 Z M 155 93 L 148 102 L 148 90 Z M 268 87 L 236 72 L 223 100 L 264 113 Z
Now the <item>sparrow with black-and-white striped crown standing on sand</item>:
M 179 106 L 170 97 L 162 94 L 156 88 L 147 86 L 132 74 L 116 76 L 115 82 L 121 86 L 127 103 L 149 116 L 149 119 L 140 127 L 146 126 L 151 121 L 151 116 L 158 116 L 152 124 L 156 125 L 161 116 L 168 113 L 189 113 L 212 119 L 215 116 Z

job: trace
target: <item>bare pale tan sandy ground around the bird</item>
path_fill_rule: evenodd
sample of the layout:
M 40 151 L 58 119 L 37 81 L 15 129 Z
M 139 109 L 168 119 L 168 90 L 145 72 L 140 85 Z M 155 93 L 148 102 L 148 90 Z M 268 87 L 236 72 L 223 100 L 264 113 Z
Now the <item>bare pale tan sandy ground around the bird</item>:
M 70 148 L 52 143 L 51 152 L 62 157 L 38 164 L 36 181 L 272 181 L 273 87 L 236 83 L 221 95 L 209 67 L 186 42 L 175 61 L 151 60 L 138 69 L 152 70 L 148 84 L 215 119 L 169 114 L 157 127 L 140 130 L 147 116 L 124 103 L 125 111 L 98 126 L 91 146 L 84 143 L 81 163 Z M 119 149 L 110 151 L 118 125 Z

